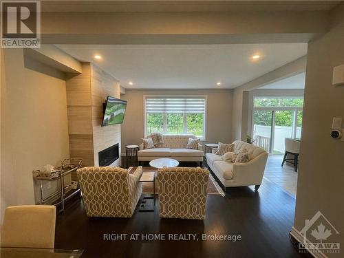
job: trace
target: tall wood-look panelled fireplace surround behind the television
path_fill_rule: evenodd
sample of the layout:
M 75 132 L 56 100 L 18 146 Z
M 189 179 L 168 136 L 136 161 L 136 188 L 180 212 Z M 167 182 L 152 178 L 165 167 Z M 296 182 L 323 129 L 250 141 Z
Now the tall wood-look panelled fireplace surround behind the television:
M 66 80 L 69 152 L 84 166 L 98 166 L 98 152 L 118 143 L 120 125 L 101 127 L 107 96 L 120 97 L 120 85 L 111 75 L 91 63 L 83 73 Z M 120 166 L 120 158 L 111 166 Z

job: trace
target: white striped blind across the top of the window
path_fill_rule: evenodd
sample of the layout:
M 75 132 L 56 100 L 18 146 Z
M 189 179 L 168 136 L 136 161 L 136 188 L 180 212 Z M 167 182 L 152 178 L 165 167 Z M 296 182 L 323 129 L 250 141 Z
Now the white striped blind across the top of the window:
M 204 97 L 146 98 L 146 113 L 204 114 L 205 110 Z

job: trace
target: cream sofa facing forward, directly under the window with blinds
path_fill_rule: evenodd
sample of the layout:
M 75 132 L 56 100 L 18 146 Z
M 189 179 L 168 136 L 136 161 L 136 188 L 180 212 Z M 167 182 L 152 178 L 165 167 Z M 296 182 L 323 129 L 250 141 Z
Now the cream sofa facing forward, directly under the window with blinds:
M 151 136 L 147 136 L 149 138 Z M 162 136 L 164 143 L 160 147 L 153 149 L 143 149 L 143 143 L 140 144 L 138 151 L 138 161 L 151 161 L 157 158 L 173 158 L 178 161 L 203 161 L 204 151 L 201 144 L 198 149 L 186 149 L 189 138 L 197 138 L 192 134 L 186 135 L 167 135 Z

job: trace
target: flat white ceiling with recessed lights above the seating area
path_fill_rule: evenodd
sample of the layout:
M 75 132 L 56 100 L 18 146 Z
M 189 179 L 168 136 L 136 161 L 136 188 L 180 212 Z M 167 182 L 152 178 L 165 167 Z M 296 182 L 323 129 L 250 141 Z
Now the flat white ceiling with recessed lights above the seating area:
M 136 89 L 230 89 L 307 54 L 306 43 L 57 47 L 95 63 L 122 87 Z M 95 59 L 96 54 L 102 58 Z M 255 54 L 261 58 L 252 59 Z

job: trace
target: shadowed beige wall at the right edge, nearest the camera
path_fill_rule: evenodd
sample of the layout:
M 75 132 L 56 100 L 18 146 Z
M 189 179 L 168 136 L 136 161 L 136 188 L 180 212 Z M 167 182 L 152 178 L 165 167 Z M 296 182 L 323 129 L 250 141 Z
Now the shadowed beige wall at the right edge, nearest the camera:
M 339 241 L 343 249 L 344 142 L 332 139 L 330 130 L 333 117 L 344 118 L 344 85 L 332 85 L 333 67 L 344 64 L 344 4 L 336 12 L 341 21 L 308 45 L 294 226 L 301 230 L 305 219 L 321 211 L 340 233 L 332 230 L 328 240 Z

